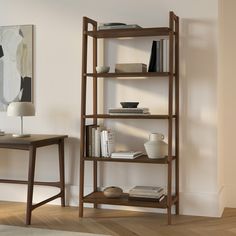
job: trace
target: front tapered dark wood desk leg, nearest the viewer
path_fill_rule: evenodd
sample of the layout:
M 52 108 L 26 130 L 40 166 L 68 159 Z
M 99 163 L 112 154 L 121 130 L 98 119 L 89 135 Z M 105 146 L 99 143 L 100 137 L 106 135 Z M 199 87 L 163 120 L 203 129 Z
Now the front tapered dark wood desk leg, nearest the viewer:
M 27 193 L 27 209 L 26 209 L 26 225 L 31 224 L 31 214 L 33 210 L 33 188 L 35 174 L 36 147 L 30 146 L 29 150 L 29 170 L 28 170 L 28 193 Z

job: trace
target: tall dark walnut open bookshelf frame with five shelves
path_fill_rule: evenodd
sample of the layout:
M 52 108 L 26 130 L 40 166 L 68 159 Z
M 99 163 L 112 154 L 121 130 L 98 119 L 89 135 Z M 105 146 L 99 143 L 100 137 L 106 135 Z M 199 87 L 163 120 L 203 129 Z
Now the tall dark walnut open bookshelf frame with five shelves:
M 160 28 L 137 28 L 137 29 L 111 29 L 97 30 L 98 23 L 88 17 L 83 17 L 83 40 L 82 40 L 82 80 L 81 80 L 81 134 L 80 134 L 80 194 L 79 194 L 79 217 L 83 217 L 84 203 L 124 205 L 137 207 L 150 207 L 167 209 L 167 223 L 171 224 L 171 208 L 175 205 L 175 213 L 179 214 L 179 18 L 173 12 L 169 13 L 169 27 Z M 89 29 L 89 28 L 92 28 Z M 104 38 L 134 38 L 160 36 L 169 39 L 169 72 L 142 72 L 142 73 L 96 73 L 98 57 L 98 39 Z M 87 72 L 88 65 L 88 37 L 92 38 L 93 71 Z M 110 115 L 98 114 L 98 79 L 105 78 L 150 78 L 160 77 L 168 80 L 168 113 L 148 115 Z M 86 113 L 87 104 L 87 80 L 92 79 L 93 112 Z M 98 124 L 98 119 L 156 119 L 167 120 L 168 126 L 168 155 L 161 159 L 149 159 L 142 155 L 135 159 L 88 157 L 86 156 L 86 120 L 92 119 L 93 124 Z M 172 141 L 173 140 L 173 141 Z M 175 150 L 173 151 L 173 142 Z M 84 194 L 85 162 L 93 163 L 93 192 Z M 162 164 L 167 165 L 167 195 L 161 202 L 130 200 L 128 194 L 120 198 L 106 198 L 98 186 L 98 163 L 99 162 L 124 162 Z M 174 167 L 174 174 L 172 174 Z M 175 191 L 172 193 L 172 187 Z

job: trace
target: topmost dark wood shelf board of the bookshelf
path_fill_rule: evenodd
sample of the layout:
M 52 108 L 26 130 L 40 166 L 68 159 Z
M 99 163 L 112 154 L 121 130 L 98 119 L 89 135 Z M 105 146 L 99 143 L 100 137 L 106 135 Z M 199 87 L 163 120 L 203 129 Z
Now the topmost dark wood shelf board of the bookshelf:
M 94 38 L 133 38 L 149 36 L 168 36 L 171 32 L 173 31 L 171 31 L 168 27 L 158 27 L 135 29 L 107 29 L 98 31 L 85 31 L 84 33 Z

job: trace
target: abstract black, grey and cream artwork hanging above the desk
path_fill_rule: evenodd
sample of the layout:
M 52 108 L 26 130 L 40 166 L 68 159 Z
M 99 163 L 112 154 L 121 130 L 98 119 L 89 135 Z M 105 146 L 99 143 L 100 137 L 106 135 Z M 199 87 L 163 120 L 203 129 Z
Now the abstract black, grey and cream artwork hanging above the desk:
M 0 26 L 0 111 L 32 102 L 33 25 Z

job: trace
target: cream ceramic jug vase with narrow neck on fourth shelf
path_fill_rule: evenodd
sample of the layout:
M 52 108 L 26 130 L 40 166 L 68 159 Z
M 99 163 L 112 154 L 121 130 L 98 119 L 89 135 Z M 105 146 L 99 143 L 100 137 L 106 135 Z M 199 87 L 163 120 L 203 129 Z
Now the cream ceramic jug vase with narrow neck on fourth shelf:
M 163 158 L 167 155 L 168 145 L 163 140 L 163 134 L 151 133 L 149 135 L 149 141 L 144 144 L 144 147 L 150 159 Z

